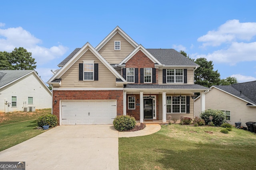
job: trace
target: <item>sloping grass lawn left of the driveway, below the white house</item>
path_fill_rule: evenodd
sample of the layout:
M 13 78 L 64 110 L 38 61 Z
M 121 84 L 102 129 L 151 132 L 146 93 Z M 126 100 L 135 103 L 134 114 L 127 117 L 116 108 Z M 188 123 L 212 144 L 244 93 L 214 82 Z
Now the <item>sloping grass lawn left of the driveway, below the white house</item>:
M 36 129 L 36 119 L 50 113 L 51 109 L 40 109 L 0 114 L 0 151 L 43 133 L 44 130 Z

